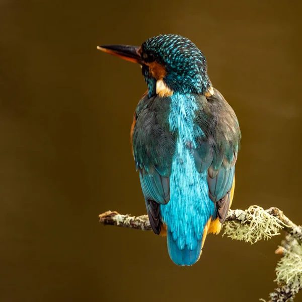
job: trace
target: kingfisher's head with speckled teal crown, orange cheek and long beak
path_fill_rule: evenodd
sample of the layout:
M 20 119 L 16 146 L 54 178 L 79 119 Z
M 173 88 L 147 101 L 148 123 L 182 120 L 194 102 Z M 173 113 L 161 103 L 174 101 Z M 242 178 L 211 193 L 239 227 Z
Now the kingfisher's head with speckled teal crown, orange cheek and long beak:
M 206 93 L 211 88 L 206 59 L 189 39 L 179 35 L 159 35 L 142 45 L 105 45 L 99 50 L 141 65 L 153 96 L 178 93 Z

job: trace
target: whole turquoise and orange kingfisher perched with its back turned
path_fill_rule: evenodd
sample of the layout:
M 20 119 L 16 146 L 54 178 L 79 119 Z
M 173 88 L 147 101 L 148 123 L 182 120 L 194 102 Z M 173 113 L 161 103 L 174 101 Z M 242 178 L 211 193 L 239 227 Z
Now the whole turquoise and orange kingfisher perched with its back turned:
M 193 265 L 232 204 L 241 140 L 236 114 L 212 86 L 203 53 L 183 36 L 97 48 L 140 64 L 147 91 L 130 136 L 148 218 L 154 233 L 167 237 L 172 261 Z

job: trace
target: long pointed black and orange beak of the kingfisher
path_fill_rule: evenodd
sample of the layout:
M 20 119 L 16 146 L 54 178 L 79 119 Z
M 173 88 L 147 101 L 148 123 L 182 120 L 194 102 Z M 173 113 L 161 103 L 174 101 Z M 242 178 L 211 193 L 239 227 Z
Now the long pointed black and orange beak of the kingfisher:
M 112 55 L 118 56 L 124 60 L 140 63 L 141 56 L 139 53 L 139 46 L 129 46 L 129 45 L 103 45 L 97 46 L 101 51 L 110 53 Z

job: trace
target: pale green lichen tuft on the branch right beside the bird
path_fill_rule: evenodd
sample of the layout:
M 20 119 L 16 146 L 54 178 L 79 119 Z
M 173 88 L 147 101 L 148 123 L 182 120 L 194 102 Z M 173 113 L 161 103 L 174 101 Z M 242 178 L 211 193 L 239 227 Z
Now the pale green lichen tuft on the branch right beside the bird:
M 253 205 L 247 210 L 235 210 L 236 221 L 226 221 L 222 236 L 243 240 L 251 244 L 272 236 L 280 235 L 283 223 L 278 218 L 267 213 L 262 207 Z

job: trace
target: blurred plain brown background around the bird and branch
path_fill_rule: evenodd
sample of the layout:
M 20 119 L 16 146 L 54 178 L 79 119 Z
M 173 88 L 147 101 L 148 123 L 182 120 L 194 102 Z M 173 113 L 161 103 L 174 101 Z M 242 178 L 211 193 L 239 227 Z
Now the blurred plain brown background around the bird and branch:
M 98 224 L 109 209 L 145 213 L 129 130 L 146 87 L 139 66 L 96 46 L 193 40 L 243 133 L 233 208 L 301 223 L 299 14 L 283 1 L 0 0 L 0 300 L 266 298 L 281 237 L 208 236 L 180 268 L 163 238 Z

